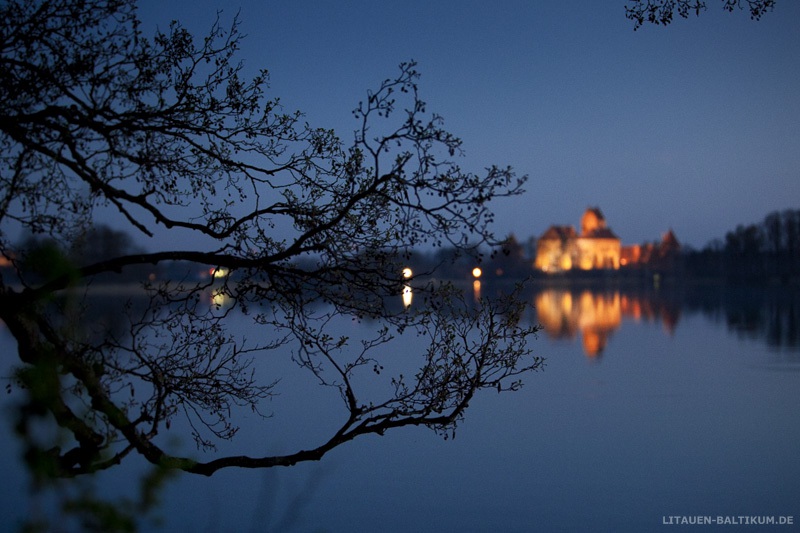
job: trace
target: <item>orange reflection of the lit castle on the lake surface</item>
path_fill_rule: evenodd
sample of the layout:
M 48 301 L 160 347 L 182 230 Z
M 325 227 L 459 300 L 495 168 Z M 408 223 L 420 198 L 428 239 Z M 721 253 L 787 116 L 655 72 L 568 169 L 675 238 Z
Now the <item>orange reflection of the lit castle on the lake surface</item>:
M 584 353 L 602 354 L 623 318 L 659 321 L 671 334 L 680 316 L 680 307 L 639 294 L 620 291 L 597 292 L 551 288 L 534 294 L 536 317 L 544 332 L 554 339 L 580 336 Z

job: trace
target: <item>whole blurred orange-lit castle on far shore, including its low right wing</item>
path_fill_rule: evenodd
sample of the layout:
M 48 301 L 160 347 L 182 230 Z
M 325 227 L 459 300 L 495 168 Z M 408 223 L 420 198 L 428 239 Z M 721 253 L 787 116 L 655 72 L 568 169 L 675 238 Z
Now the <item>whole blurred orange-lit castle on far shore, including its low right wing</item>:
M 590 207 L 581 218 L 581 233 L 572 226 L 550 226 L 536 246 L 534 268 L 542 272 L 568 270 L 674 269 L 680 243 L 672 230 L 658 244 L 622 246 L 606 225 L 603 213 Z

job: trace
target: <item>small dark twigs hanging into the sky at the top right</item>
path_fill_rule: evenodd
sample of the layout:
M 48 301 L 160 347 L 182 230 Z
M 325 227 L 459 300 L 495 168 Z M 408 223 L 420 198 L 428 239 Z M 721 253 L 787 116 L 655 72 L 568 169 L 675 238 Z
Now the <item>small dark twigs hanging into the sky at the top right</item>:
M 746 9 L 751 19 L 760 20 L 767 11 L 772 11 L 775 0 L 722 0 L 722 7 L 728 12 Z M 692 13 L 699 16 L 706 8 L 703 0 L 628 0 L 625 17 L 633 21 L 633 29 L 637 30 L 645 23 L 666 26 L 676 13 L 683 18 Z

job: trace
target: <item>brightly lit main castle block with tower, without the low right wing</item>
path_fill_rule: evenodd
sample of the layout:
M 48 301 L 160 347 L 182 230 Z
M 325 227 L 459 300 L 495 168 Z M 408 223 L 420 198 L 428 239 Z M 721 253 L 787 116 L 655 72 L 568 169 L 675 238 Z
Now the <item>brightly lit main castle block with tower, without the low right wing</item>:
M 590 207 L 581 218 L 581 233 L 572 226 L 550 226 L 537 242 L 534 268 L 543 272 L 617 270 L 622 244 L 606 225 L 603 213 Z

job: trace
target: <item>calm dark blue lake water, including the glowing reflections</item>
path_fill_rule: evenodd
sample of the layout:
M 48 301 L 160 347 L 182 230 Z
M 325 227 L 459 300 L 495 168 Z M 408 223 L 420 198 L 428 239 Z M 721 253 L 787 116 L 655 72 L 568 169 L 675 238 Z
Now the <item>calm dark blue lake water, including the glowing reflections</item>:
M 669 531 L 698 516 L 792 517 L 766 527 L 800 527 L 795 292 L 562 287 L 526 298 L 538 313 L 530 320 L 546 326 L 533 341 L 545 370 L 520 392 L 478 396 L 454 440 L 401 429 L 318 463 L 182 475 L 153 530 Z M 413 349 L 409 340 L 395 356 Z M 240 446 L 289 449 L 331 424 L 335 393 L 292 378 L 284 388 L 274 419 L 242 422 Z M 11 524 L 42 502 L 19 488 L 7 427 L 0 511 Z M 136 465 L 103 482 L 124 486 L 124 468 Z

